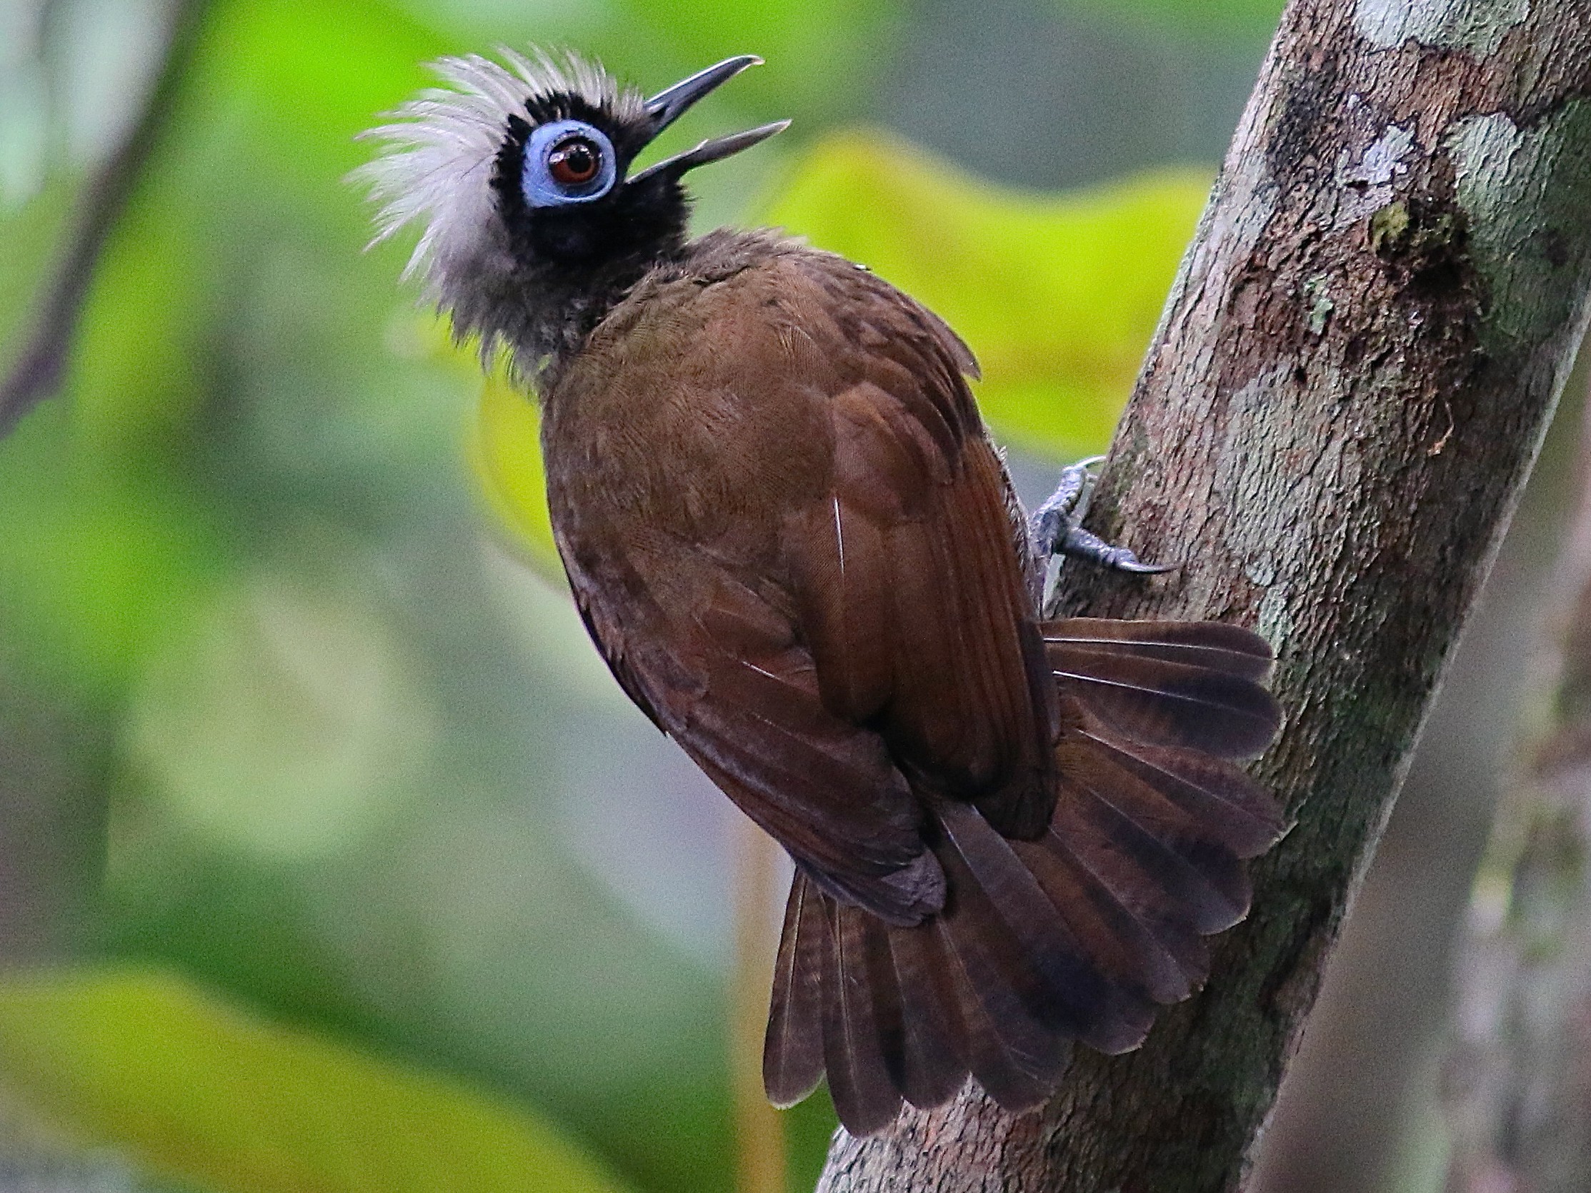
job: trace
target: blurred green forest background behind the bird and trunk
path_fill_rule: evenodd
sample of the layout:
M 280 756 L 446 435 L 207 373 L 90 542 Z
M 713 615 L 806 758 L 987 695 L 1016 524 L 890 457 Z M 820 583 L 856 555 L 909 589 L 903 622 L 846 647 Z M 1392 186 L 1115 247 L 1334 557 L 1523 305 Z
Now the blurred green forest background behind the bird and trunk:
M 0 442 L 0 1188 L 735 1187 L 737 813 L 517 512 L 533 407 L 482 407 L 398 282 L 412 237 L 361 251 L 353 137 L 426 59 L 562 45 L 655 91 L 762 54 L 659 146 L 796 121 L 692 175 L 698 227 L 784 224 L 937 307 L 1031 496 L 1107 442 L 1279 8 L 0 0 L 0 377 L 86 205 L 130 185 L 59 393 Z M 1265 1188 L 1440 1188 L 1449 948 L 1567 455 Z M 784 1121 L 810 1188 L 832 1112 Z

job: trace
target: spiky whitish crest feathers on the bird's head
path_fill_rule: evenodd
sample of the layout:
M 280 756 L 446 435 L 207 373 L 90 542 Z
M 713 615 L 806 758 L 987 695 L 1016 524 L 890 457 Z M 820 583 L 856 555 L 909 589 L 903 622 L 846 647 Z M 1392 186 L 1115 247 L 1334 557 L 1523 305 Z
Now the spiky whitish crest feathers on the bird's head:
M 387 113 L 391 122 L 360 134 L 361 140 L 382 142 L 382 150 L 350 175 L 368 183 L 371 199 L 380 204 L 371 245 L 423 221 L 404 277 L 422 274 L 426 299 L 455 309 L 455 317 L 465 286 L 508 277 L 512 269 L 492 191 L 509 118 L 528 118 L 527 103 L 557 94 L 578 94 L 620 118 L 640 116 L 644 105 L 638 91 L 620 87 L 576 54 L 498 52 L 506 65 L 479 54 L 433 62 L 431 70 L 449 86 L 428 87 Z M 469 329 L 458 328 L 461 334 Z

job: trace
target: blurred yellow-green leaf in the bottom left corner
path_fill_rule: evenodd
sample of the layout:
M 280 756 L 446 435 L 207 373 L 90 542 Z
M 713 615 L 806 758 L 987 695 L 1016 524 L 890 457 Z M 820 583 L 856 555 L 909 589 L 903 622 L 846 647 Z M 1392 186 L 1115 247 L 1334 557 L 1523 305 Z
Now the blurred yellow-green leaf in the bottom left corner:
M 150 970 L 0 981 L 0 1083 L 216 1193 L 619 1193 L 525 1110 Z

